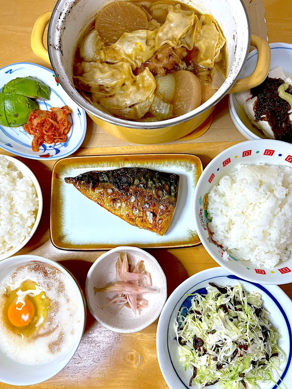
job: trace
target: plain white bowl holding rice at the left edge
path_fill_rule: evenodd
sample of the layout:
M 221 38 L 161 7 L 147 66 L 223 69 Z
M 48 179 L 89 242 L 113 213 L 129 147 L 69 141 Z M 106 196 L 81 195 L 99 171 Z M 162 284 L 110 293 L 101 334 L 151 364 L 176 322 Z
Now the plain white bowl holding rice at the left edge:
M 0 154 L 0 155 L 2 155 L 2 154 Z M 26 238 L 25 240 L 23 240 L 23 242 L 21 242 L 21 244 L 18 247 L 14 247 L 14 249 L 11 249 L 4 254 L 0 254 L 0 261 L 1 261 L 1 259 L 5 259 L 5 258 L 11 257 L 12 255 L 16 254 L 16 252 L 18 252 L 20 249 L 22 249 L 27 244 L 27 242 L 30 240 L 30 238 L 33 236 L 33 234 L 37 230 L 37 227 L 38 227 L 39 222 L 40 222 L 40 217 L 42 216 L 42 190 L 40 189 L 39 181 L 37 180 L 37 178 L 35 177 L 33 172 L 30 170 L 30 168 L 28 168 L 24 163 L 22 163 L 21 161 L 19 161 L 16 158 L 9 157 L 8 155 L 4 155 L 4 157 L 6 159 L 8 159 L 9 161 L 11 161 L 11 163 L 13 163 L 13 165 L 16 167 L 16 169 L 19 170 L 19 172 L 21 172 L 23 176 L 29 176 L 32 179 L 33 185 L 35 186 L 35 189 L 37 190 L 37 196 L 39 198 L 39 209 L 37 211 L 37 216 L 35 218 L 35 224 L 33 224 L 33 228 L 32 228 L 32 231 L 30 231 L 29 237 Z

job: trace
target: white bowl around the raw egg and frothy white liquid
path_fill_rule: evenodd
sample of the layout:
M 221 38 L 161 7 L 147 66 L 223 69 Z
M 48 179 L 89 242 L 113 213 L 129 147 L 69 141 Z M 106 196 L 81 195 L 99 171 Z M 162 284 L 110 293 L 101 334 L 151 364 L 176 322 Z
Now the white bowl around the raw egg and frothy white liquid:
M 67 270 L 59 263 L 35 255 L 19 255 L 12 258 L 7 258 L 0 262 L 0 281 L 7 277 L 7 275 L 14 272 L 14 270 L 16 270 L 19 266 L 33 261 L 47 263 L 49 265 L 55 266 L 71 280 L 71 282 L 76 286 L 76 291 L 78 292 L 78 303 L 83 305 L 84 314 L 82 317 L 80 317 L 80 327 L 78 333 L 76 334 L 76 340 L 74 343 L 72 343 L 68 352 L 66 354 L 61 354 L 55 360 L 49 363 L 35 365 L 19 363 L 7 357 L 4 352 L 0 350 L 0 381 L 4 382 L 5 384 L 21 386 L 35 385 L 58 374 L 58 372 L 61 371 L 74 356 L 84 331 L 86 303 L 79 289 L 79 286 L 76 283 L 76 280 L 74 280 L 69 272 L 67 272 Z

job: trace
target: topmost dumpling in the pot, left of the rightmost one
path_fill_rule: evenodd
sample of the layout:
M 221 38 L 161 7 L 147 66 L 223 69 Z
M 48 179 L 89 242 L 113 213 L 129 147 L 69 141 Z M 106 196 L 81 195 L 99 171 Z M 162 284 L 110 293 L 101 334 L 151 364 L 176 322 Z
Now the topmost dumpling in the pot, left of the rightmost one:
M 180 4 L 173 7 L 170 5 L 165 23 L 158 28 L 155 39 L 157 49 L 168 43 L 171 47 L 181 46 L 179 39 L 184 37 L 193 26 L 195 14 L 192 11 L 184 11 Z

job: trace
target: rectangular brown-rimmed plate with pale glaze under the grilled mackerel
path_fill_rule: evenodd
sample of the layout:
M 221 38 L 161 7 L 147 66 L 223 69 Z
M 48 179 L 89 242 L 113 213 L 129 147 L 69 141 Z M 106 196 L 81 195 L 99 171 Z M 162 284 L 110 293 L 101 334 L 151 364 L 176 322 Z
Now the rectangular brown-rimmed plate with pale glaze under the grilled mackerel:
M 90 170 L 143 167 L 180 176 L 176 210 L 163 237 L 128 224 L 82 195 L 65 177 Z M 124 154 L 60 159 L 53 168 L 50 235 L 63 250 L 110 250 L 121 245 L 178 248 L 200 244 L 193 221 L 193 195 L 203 170 L 192 154 Z

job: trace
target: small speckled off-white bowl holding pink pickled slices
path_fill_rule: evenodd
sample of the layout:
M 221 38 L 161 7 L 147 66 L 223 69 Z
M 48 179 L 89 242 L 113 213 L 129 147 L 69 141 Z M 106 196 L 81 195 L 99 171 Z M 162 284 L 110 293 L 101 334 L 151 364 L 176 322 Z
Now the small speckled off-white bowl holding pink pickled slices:
M 127 252 L 131 265 L 136 265 L 142 259 L 145 270 L 151 274 L 152 278 L 152 287 L 149 289 L 153 290 L 154 293 L 142 295 L 145 300 L 148 300 L 148 308 L 137 311 L 139 313 L 136 315 L 131 309 L 121 308 L 120 305 L 104 307 L 109 299 L 115 295 L 107 292 L 95 294 L 93 289 L 94 287 L 104 287 L 116 281 L 116 261 L 121 252 Z M 86 277 L 85 293 L 91 314 L 102 326 L 115 332 L 137 332 L 148 327 L 160 315 L 167 297 L 166 278 L 157 260 L 148 252 L 138 247 L 116 247 L 102 254 L 93 263 Z

